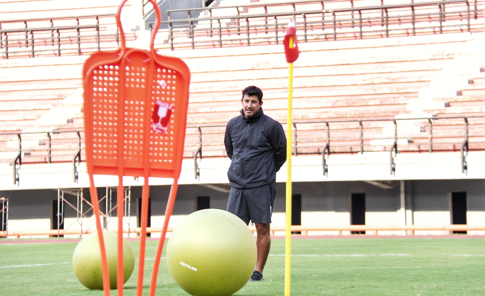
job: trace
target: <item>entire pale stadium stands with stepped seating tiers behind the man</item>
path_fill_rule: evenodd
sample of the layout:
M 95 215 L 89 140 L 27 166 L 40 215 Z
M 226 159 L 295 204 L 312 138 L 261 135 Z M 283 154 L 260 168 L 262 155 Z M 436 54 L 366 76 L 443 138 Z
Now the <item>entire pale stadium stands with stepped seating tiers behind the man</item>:
M 102 50 L 117 47 L 113 14 L 119 1 L 98 2 L 0 0 L 0 175 L 9 184 L 12 179 L 9 163 L 14 162 L 15 178 L 17 162 L 14 159 L 19 153 L 23 168 L 29 164 L 70 165 L 72 161 L 74 172 L 65 174 L 69 182 L 72 174 L 77 176 L 78 167 L 73 156 L 81 151 L 81 160 L 84 161 L 82 65 L 88 54 L 95 52 L 98 46 Z M 127 24 L 124 28 L 130 46 L 146 47 L 146 33 L 149 31 L 143 28 L 135 31 L 143 22 L 139 2 L 128 2 L 131 7 L 125 8 L 128 15 L 123 23 Z M 192 73 L 184 150 L 186 168 L 192 170 L 194 156 L 212 159 L 217 163 L 215 167 L 226 161 L 223 145 L 225 125 L 230 118 L 238 115 L 241 90 L 248 85 L 257 85 L 263 90 L 265 114 L 283 123 L 285 130 L 289 128 L 285 124 L 288 64 L 279 43 L 281 39 L 275 38 L 275 27 L 266 26 L 270 30 L 264 32 L 264 18 L 261 23 L 259 17 L 252 23 L 255 25 L 252 29 L 240 31 L 240 35 L 237 35 L 238 29 L 230 28 L 236 26 L 236 18 L 242 20 L 263 13 L 287 14 L 278 19 L 278 26 L 281 26 L 278 28 L 279 37 L 283 36 L 284 27 L 293 12 L 299 26 L 301 54 L 294 64 L 293 82 L 294 156 L 319 156 L 318 159 L 321 159 L 328 144 L 328 153 L 332 155 L 386 152 L 388 161 L 389 150 L 397 144 L 399 153 L 442 152 L 445 158 L 448 157 L 446 153 L 463 150 L 464 139 L 468 150 L 480 153 L 485 150 L 485 35 L 481 9 L 484 1 L 473 3 L 475 6 L 470 6 L 470 14 L 456 13 L 455 10 L 453 15 L 453 7 L 460 11 L 463 9 L 460 6 L 462 2 L 457 1 L 460 5 L 451 5 L 450 14 L 443 15 L 442 22 L 439 22 L 439 16 L 437 19 L 436 15 L 426 16 L 427 23 L 431 25 L 423 26 L 426 30 L 418 30 L 416 36 L 412 36 L 409 17 L 399 19 L 394 14 L 396 22 L 392 25 L 403 27 L 388 31 L 388 37 L 393 38 L 384 38 L 386 28 L 391 30 L 391 24 L 381 28 L 383 19 L 378 10 L 372 10 L 372 14 L 368 15 L 377 19 L 369 21 L 366 26 L 370 29 L 365 31 L 362 27 L 366 26 L 357 17 L 358 11 L 354 11 L 355 15 L 351 14 L 349 20 L 348 13 L 352 13 L 349 9 L 380 5 L 401 5 L 401 8 L 408 5 L 406 7 L 409 8 L 409 2 L 293 1 L 294 5 L 282 4 L 288 1 L 279 1 L 277 5 L 275 2 L 222 0 L 211 10 L 203 10 L 200 16 L 192 16 L 201 19 L 192 28 L 199 30 L 199 35 L 191 36 L 186 25 L 177 33 L 174 33 L 175 27 L 158 32 L 156 47 L 159 53 L 181 58 Z M 327 27 L 324 30 L 308 27 L 304 32 L 302 12 L 319 10 L 322 5 L 326 11 L 344 10 L 341 21 L 336 22 L 340 27 L 333 31 L 327 31 Z M 421 13 L 436 14 L 437 8 L 434 9 L 425 7 Z M 100 15 L 106 15 L 105 20 L 101 21 L 99 17 L 97 26 L 96 16 Z M 55 17 L 59 19 L 51 23 L 50 19 Z M 79 35 L 76 28 L 66 29 L 61 35 L 57 29 L 34 32 L 34 35 L 29 33 L 30 29 L 25 29 L 76 27 L 76 17 L 85 19 L 89 26 L 95 24 L 95 28 L 86 28 Z M 36 20 L 24 22 L 27 19 Z M 321 24 L 322 18 L 314 18 L 313 21 Z M 453 21 L 457 23 L 453 25 Z M 347 30 L 352 22 L 358 30 Z M 446 26 L 446 22 L 450 26 Z M 247 24 L 249 22 L 239 23 L 240 26 Z M 226 35 L 220 33 L 223 27 L 227 29 Z M 24 31 L 5 32 L 15 28 Z M 375 31 L 372 28 L 381 29 Z M 442 34 L 440 28 L 443 29 Z M 341 30 L 340 35 L 337 29 Z M 98 32 L 104 37 L 96 39 Z M 360 35 L 362 32 L 363 35 Z M 210 33 L 214 35 L 208 37 Z M 246 39 L 246 33 L 251 38 Z M 9 43 L 8 48 L 5 47 L 7 34 L 9 39 L 17 40 Z M 58 36 L 64 39 L 57 42 Z M 33 45 L 29 38 L 34 38 Z M 191 43 L 194 49 L 191 49 Z M 396 154 L 390 154 L 392 162 Z M 466 164 L 463 156 L 462 152 L 462 166 Z M 477 157 L 469 159 L 482 161 L 481 155 Z M 226 170 L 225 163 L 222 171 Z M 196 168 L 197 163 L 194 164 Z M 462 168 L 462 171 L 466 169 Z M 193 173 L 190 178 L 192 176 Z M 204 180 L 200 183 L 210 183 Z M 11 191 L 22 189 L 17 186 L 18 182 L 15 187 L 8 188 Z M 73 182 L 69 183 L 69 187 L 79 185 Z M 216 190 L 226 192 L 226 189 L 218 188 Z

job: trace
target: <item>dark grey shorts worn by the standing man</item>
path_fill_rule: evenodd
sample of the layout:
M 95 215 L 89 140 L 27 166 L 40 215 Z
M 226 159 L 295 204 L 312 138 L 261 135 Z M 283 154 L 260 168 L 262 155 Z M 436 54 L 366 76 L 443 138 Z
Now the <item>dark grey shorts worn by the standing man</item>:
M 271 223 L 273 203 L 276 196 L 276 182 L 254 188 L 231 187 L 227 212 L 242 219 L 246 224 Z

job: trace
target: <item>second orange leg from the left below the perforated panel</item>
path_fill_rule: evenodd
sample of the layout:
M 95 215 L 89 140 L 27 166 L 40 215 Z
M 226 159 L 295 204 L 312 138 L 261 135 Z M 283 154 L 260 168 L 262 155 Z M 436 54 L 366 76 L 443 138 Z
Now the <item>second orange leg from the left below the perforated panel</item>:
M 118 296 L 123 296 L 123 284 L 125 281 L 124 268 L 123 268 L 123 214 L 124 214 L 124 201 L 125 188 L 123 187 L 123 176 L 118 176 L 118 188 L 117 188 L 117 207 L 116 214 L 118 215 L 118 262 L 117 262 L 117 275 L 116 275 L 116 288 L 118 289 Z

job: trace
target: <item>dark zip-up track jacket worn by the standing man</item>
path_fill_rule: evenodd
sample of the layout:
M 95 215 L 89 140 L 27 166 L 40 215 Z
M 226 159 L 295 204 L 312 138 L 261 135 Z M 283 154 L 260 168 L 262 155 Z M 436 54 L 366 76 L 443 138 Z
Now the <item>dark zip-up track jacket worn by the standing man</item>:
M 227 171 L 234 188 L 253 188 L 276 181 L 286 161 L 283 126 L 259 109 L 253 117 L 234 117 L 227 123 L 224 144 L 232 163 Z

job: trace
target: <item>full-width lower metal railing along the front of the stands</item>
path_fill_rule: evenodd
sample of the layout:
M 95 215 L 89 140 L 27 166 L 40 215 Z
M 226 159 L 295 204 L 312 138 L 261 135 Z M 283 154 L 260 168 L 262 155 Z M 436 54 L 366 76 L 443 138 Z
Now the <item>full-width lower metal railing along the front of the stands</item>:
M 286 125 L 286 122 L 281 124 Z M 194 178 L 200 175 L 197 158 L 200 160 L 203 155 L 225 156 L 225 126 L 187 125 L 184 157 L 194 159 Z M 295 143 L 292 154 L 322 155 L 324 175 L 328 174 L 326 159 L 331 153 L 387 151 L 389 172 L 393 174 L 397 153 L 460 151 L 464 173 L 467 171 L 468 151 L 485 150 L 485 115 L 293 121 L 291 128 Z M 73 138 L 73 134 L 76 138 Z M 13 182 L 18 184 L 18 167 L 22 159 L 24 163 L 26 158 L 30 163 L 72 161 L 73 182 L 77 182 L 77 168 L 84 154 L 81 134 L 84 134 L 81 129 L 1 132 L 0 162 L 12 161 Z

